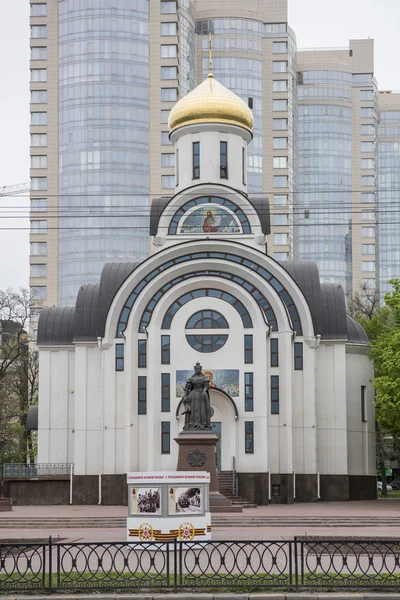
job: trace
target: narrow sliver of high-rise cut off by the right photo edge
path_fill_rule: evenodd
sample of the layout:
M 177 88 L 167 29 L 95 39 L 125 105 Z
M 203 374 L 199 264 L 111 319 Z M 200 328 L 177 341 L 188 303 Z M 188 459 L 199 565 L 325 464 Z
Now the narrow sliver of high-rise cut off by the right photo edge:
M 377 283 L 400 276 L 400 93 L 380 92 L 378 126 Z

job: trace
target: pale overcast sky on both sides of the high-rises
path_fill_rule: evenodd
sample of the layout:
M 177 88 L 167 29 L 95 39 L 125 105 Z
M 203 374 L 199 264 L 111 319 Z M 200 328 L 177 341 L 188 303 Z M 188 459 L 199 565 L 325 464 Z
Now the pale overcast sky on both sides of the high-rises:
M 400 0 L 288 0 L 288 4 L 299 49 L 343 47 L 349 39 L 373 38 L 379 89 L 400 91 Z M 3 0 L 1 8 L 0 188 L 29 181 L 29 1 Z M 28 286 L 27 210 L 27 198 L 0 198 L 0 290 Z M 16 213 L 20 218 L 7 218 Z

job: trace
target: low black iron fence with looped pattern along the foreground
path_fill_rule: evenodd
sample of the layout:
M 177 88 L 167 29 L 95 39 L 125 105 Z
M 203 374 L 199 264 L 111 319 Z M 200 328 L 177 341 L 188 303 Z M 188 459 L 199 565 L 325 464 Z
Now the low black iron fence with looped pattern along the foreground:
M 395 540 L 0 543 L 8 592 L 399 586 Z

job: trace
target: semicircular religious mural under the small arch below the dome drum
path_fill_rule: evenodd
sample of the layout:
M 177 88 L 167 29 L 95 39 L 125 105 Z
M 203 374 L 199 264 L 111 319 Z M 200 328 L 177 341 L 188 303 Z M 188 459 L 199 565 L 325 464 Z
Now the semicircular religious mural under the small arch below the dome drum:
M 242 233 L 242 226 L 223 206 L 202 204 L 182 217 L 178 233 Z

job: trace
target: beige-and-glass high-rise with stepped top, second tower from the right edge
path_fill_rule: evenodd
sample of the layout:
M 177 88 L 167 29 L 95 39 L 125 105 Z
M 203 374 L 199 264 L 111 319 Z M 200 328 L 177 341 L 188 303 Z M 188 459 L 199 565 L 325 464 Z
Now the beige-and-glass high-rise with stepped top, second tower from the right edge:
M 351 294 L 375 280 L 373 40 L 299 51 L 297 68 L 299 257 Z

